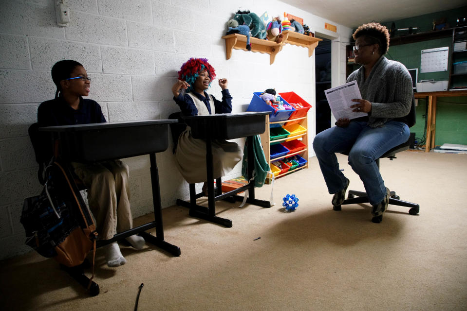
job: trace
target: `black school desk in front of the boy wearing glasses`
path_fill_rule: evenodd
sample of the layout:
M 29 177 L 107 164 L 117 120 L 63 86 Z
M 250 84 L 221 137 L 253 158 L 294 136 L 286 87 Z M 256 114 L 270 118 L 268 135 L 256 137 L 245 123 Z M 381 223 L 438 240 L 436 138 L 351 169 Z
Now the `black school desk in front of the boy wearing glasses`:
M 59 140 L 58 152 L 61 158 L 67 161 L 92 163 L 149 155 L 154 221 L 117 233 L 111 240 L 97 241 L 97 247 L 139 234 L 146 242 L 172 255 L 180 256 L 178 246 L 164 241 L 159 174 L 155 155 L 167 149 L 168 124 L 176 122 L 177 120 L 125 121 L 39 128 L 39 131 L 51 132 L 54 139 Z M 151 228 L 156 228 L 156 236 L 145 232 Z

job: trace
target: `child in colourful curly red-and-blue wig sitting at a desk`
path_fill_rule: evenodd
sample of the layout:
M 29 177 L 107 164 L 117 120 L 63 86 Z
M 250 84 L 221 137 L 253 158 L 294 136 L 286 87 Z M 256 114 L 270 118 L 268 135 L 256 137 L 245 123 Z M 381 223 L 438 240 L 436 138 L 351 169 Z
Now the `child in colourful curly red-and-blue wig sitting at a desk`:
M 202 116 L 232 112 L 232 96 L 227 89 L 227 79 L 219 79 L 222 101 L 206 90 L 216 77 L 214 68 L 205 58 L 190 58 L 178 71 L 178 80 L 172 86 L 173 100 L 182 111 L 182 116 Z M 185 93 L 186 91 L 186 93 Z M 238 144 L 226 140 L 212 141 L 214 178 L 226 175 L 242 159 Z M 191 128 L 178 138 L 175 159 L 178 169 L 190 183 L 204 182 L 203 192 L 207 194 L 206 143 L 191 136 Z

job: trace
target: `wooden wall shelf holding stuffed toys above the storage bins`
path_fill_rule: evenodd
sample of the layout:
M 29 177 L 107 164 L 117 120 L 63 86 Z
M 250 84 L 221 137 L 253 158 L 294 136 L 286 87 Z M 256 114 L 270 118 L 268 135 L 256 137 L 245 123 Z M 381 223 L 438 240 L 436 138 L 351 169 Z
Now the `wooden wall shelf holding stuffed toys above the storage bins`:
M 318 46 L 318 42 L 321 41 L 321 39 L 291 31 L 283 31 L 282 34 L 284 38 L 280 44 L 274 41 L 250 37 L 251 52 L 269 54 L 269 64 L 272 65 L 277 53 L 282 50 L 282 47 L 286 43 L 308 48 L 308 57 L 310 57 Z M 246 49 L 246 35 L 231 34 L 224 35 L 222 38 L 225 39 L 225 53 L 227 59 L 230 59 L 232 56 L 233 49 L 248 51 Z

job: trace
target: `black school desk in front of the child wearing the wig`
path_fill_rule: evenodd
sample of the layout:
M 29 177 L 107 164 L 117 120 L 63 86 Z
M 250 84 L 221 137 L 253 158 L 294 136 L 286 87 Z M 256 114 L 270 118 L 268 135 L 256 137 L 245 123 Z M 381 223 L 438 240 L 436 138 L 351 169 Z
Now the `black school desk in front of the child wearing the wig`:
M 191 135 L 193 138 L 205 139 L 206 141 L 206 170 L 207 170 L 207 204 L 208 207 L 202 207 L 196 204 L 194 187 L 190 187 L 190 202 L 177 200 L 177 205 L 190 208 L 190 216 L 201 218 L 226 227 L 232 226 L 230 219 L 216 216 L 215 201 L 233 197 L 237 201 L 243 201 L 243 197 L 236 195 L 239 192 L 248 190 L 247 203 L 271 207 L 269 201 L 258 200 L 255 198 L 255 183 L 251 180 L 254 171 L 254 164 L 248 165 L 248 184 L 236 190 L 228 191 L 224 194 L 214 191 L 213 177 L 213 159 L 212 159 L 212 139 L 234 139 L 246 137 L 247 163 L 254 162 L 253 136 L 262 134 L 266 129 L 265 116 L 270 112 L 243 112 L 243 113 L 225 113 L 206 116 L 189 116 L 184 119 L 191 126 Z M 217 185 L 220 189 L 220 185 Z M 220 191 L 219 191 L 220 192 Z

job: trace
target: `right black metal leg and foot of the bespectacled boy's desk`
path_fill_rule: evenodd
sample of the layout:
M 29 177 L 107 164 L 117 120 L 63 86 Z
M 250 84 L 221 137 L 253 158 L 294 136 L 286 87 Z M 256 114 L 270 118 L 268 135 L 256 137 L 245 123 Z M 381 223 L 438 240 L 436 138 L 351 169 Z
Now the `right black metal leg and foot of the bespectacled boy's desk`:
M 152 184 L 152 202 L 154 204 L 154 226 L 156 228 L 156 236 L 150 235 L 143 231 L 140 233 L 146 242 L 150 242 L 175 256 L 180 256 L 180 247 L 172 245 L 164 241 L 164 227 L 162 224 L 162 204 L 160 195 L 159 173 L 156 164 L 155 153 L 149 154 L 151 161 L 151 184 Z

